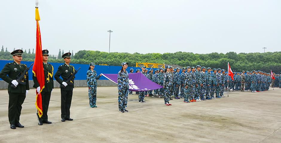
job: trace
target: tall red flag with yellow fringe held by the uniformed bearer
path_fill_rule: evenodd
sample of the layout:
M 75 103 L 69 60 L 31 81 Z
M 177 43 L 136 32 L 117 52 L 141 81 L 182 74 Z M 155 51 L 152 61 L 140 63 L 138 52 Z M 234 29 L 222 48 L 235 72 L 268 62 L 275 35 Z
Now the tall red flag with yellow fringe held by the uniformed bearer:
M 42 89 L 45 86 L 45 76 L 44 76 L 44 69 L 43 69 L 43 61 L 42 61 L 42 45 L 41 45 L 41 33 L 39 28 L 39 12 L 38 7 L 35 9 L 35 20 L 36 20 L 36 49 L 35 49 L 35 59 L 34 59 L 34 65 L 32 72 L 34 76 L 37 78 L 37 81 L 40 86 L 40 93 L 42 92 Z M 38 115 L 41 117 L 43 115 L 42 112 L 42 96 L 41 94 L 37 92 L 36 90 L 36 102 L 35 106 L 38 110 Z

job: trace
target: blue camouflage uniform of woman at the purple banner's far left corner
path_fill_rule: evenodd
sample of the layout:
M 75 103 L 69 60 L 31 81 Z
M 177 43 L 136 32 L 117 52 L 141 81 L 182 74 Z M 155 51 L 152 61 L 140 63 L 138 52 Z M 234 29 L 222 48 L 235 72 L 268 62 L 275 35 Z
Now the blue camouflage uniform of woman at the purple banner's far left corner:
M 87 86 L 88 94 L 89 94 L 89 104 L 90 107 L 94 107 L 96 105 L 97 101 L 97 80 L 100 79 L 100 75 L 97 75 L 97 72 L 95 70 L 87 71 Z

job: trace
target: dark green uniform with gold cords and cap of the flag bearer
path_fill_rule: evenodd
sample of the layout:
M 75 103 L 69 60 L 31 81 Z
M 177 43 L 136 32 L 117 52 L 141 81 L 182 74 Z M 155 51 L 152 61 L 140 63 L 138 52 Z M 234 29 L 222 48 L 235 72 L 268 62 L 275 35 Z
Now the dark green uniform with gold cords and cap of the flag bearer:
M 49 51 L 48 50 L 43 50 L 42 51 L 42 55 L 48 55 Z M 50 63 L 43 63 L 43 69 L 44 69 L 44 76 L 45 76 L 45 86 L 41 92 L 41 96 L 42 96 L 42 109 L 43 109 L 43 115 L 41 116 L 41 118 L 39 118 L 38 113 L 38 120 L 39 120 L 39 124 L 40 122 L 46 122 L 48 121 L 48 107 L 49 107 L 49 102 L 50 102 L 50 98 L 51 98 L 51 92 L 54 88 L 54 78 L 53 78 L 53 74 L 54 74 L 54 67 L 50 64 Z M 34 88 L 39 87 L 39 83 L 37 81 L 37 77 L 32 76 L 33 78 L 33 82 L 34 82 Z M 42 123 L 41 123 L 42 124 Z

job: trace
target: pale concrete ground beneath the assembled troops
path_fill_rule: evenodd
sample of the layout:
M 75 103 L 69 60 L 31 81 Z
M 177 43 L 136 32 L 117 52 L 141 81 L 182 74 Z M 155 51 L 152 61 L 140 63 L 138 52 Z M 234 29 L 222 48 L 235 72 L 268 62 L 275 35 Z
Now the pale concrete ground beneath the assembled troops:
M 117 87 L 97 88 L 98 108 L 89 107 L 87 88 L 74 88 L 74 120 L 61 122 L 60 89 L 55 88 L 48 111 L 53 124 L 39 126 L 31 89 L 20 118 L 25 128 L 12 130 L 8 93 L 0 90 L 0 142 L 275 143 L 281 141 L 280 91 L 233 91 L 229 97 L 192 103 L 174 99 L 172 106 L 165 106 L 163 98 L 145 97 L 146 103 L 138 103 L 138 95 L 129 95 L 129 112 L 119 113 Z

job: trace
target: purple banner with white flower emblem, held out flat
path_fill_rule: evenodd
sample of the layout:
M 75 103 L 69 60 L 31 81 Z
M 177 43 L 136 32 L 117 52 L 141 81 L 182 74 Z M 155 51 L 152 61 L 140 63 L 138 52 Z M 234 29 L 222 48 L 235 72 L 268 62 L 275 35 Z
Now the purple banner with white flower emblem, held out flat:
M 110 81 L 117 83 L 117 74 L 102 74 Z M 154 83 L 145 77 L 142 73 L 129 73 L 129 90 L 130 91 L 149 91 L 163 88 L 163 86 Z

